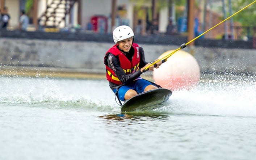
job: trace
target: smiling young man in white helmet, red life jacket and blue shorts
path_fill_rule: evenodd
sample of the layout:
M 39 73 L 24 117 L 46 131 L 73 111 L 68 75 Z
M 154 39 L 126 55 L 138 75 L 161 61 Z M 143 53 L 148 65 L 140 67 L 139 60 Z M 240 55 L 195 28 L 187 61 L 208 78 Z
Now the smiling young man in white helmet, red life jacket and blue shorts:
M 116 44 L 106 52 L 104 64 L 109 86 L 118 98 L 125 101 L 138 93 L 158 88 L 140 77 L 151 63 L 145 61 L 143 48 L 134 43 L 133 30 L 129 26 L 118 26 L 113 31 L 113 39 Z M 161 61 L 157 62 L 156 68 L 161 64 Z M 148 69 L 153 71 L 154 66 Z

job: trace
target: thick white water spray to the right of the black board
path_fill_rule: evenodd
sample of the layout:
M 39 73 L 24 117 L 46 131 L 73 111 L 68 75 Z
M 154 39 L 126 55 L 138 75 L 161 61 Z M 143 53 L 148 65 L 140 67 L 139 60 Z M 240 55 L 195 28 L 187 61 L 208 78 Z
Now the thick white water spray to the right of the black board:
M 176 114 L 256 117 L 256 80 L 253 76 L 206 77 L 194 89 L 174 92 L 166 106 Z

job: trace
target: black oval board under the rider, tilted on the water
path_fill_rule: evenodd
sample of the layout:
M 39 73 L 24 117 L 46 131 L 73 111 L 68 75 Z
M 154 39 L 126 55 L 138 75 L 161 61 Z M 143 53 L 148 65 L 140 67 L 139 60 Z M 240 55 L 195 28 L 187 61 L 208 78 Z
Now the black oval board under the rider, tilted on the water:
M 147 110 L 168 100 L 171 95 L 172 91 L 165 88 L 148 90 L 126 100 L 122 105 L 121 111 Z

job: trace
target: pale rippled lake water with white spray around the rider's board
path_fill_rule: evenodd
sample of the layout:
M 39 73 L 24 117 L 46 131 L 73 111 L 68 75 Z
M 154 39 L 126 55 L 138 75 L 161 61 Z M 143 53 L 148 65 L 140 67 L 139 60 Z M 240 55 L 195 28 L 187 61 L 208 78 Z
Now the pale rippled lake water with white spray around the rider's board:
M 106 80 L 0 76 L 1 160 L 254 160 L 256 78 L 201 75 L 122 114 Z

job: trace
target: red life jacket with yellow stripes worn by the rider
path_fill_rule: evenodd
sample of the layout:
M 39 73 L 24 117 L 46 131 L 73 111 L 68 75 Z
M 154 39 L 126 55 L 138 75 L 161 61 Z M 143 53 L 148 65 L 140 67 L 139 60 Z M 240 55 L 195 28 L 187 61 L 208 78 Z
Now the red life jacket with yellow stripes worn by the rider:
M 106 67 L 106 78 L 108 81 L 120 85 L 122 84 L 121 81 L 118 79 L 116 76 L 115 72 L 108 66 L 108 55 L 109 53 L 112 53 L 115 56 L 118 56 L 120 67 L 123 69 L 123 71 L 126 74 L 133 73 L 135 71 L 139 70 L 139 46 L 136 43 L 133 43 L 132 47 L 134 48 L 134 53 L 133 53 L 133 59 L 130 61 L 126 56 L 117 48 L 117 45 L 114 45 L 111 47 L 105 54 L 104 57 L 104 64 Z M 111 64 L 110 64 L 111 66 Z

